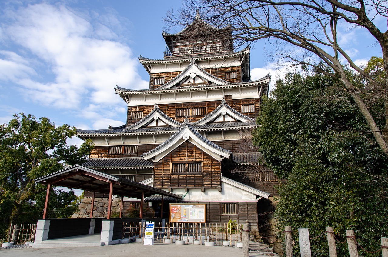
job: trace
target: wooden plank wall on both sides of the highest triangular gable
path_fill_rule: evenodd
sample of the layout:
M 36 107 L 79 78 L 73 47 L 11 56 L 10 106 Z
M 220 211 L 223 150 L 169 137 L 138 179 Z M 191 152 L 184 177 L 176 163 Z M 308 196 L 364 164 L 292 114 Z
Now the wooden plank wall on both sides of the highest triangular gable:
M 227 82 L 241 82 L 242 81 L 242 75 L 241 75 L 241 66 L 230 66 L 230 67 L 222 67 L 222 68 L 210 68 L 210 69 L 204 69 L 208 73 L 210 73 L 213 76 L 216 76 L 217 78 L 220 78 L 222 80 L 226 80 Z M 237 71 L 237 78 L 233 79 L 225 79 L 225 72 L 228 71 Z M 155 78 L 165 78 L 165 83 L 169 82 L 176 76 L 178 76 L 182 71 L 172 71 L 172 72 L 161 72 L 161 73 L 152 73 L 150 74 L 149 78 L 149 88 L 150 89 L 156 89 L 160 87 L 161 85 L 154 85 L 154 79 Z

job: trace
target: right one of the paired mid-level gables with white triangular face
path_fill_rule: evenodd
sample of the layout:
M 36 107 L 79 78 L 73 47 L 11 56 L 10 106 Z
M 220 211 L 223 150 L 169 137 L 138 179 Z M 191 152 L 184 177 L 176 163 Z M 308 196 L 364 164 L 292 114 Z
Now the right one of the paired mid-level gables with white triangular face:
M 199 126 L 211 122 L 255 122 L 255 120 L 239 113 L 222 99 L 221 104 L 214 111 L 192 125 Z

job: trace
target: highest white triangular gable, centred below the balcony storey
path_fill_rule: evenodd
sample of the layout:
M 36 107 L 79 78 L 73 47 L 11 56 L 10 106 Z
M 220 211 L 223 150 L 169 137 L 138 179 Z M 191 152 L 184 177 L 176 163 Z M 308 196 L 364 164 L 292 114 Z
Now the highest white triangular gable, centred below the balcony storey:
M 170 80 L 169 82 L 161 85 L 158 89 L 170 89 L 175 85 L 187 82 L 187 80 L 199 80 L 200 82 L 207 84 L 216 84 L 216 85 L 226 85 L 230 84 L 229 82 L 217 78 L 216 76 L 211 75 L 204 69 L 202 69 L 198 64 L 195 63 L 194 59 L 191 59 L 190 65 L 187 66 L 184 71 L 182 71 L 178 76 Z

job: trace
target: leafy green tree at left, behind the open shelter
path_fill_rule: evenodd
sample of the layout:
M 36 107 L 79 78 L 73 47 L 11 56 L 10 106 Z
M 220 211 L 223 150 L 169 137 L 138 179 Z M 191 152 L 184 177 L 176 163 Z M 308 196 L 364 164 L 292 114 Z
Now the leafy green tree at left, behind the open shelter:
M 68 147 L 66 140 L 74 134 L 75 128 L 67 124 L 55 126 L 48 118 L 37 120 L 23 113 L 0 125 L 0 238 L 9 223 L 36 222 L 42 217 L 47 187 L 34 179 L 83 163 L 93 143 Z M 72 190 L 54 188 L 49 217 L 73 214 L 76 198 Z

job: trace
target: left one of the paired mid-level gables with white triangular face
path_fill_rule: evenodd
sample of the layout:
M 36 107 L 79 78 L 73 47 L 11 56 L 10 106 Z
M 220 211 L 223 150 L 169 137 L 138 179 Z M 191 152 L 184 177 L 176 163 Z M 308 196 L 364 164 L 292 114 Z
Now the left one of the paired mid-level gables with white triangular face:
M 158 122 L 156 122 L 158 121 Z M 135 124 L 127 127 L 126 130 L 137 130 L 139 128 L 147 127 L 180 127 L 182 123 L 177 122 L 167 116 L 158 107 L 158 104 L 154 105 L 154 109 L 147 116 L 136 122 Z

